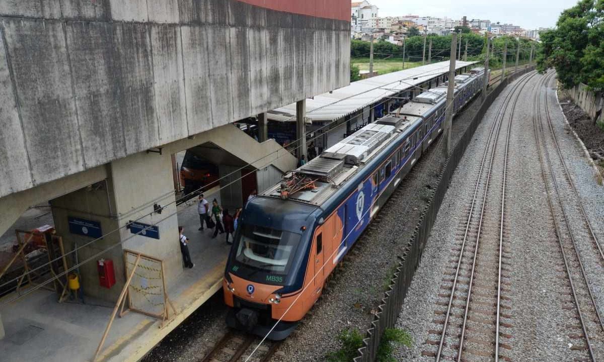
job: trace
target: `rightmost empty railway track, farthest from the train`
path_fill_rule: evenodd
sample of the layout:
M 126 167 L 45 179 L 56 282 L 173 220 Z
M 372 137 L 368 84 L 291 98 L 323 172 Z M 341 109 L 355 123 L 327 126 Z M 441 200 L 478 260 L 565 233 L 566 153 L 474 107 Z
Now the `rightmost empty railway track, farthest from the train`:
M 576 310 L 576 319 L 580 325 L 581 336 L 571 334 L 575 340 L 580 339 L 584 345 L 575 346 L 573 351 L 577 355 L 577 360 L 602 361 L 604 360 L 604 322 L 599 311 L 599 306 L 593 294 L 593 281 L 586 272 L 585 259 L 586 253 L 582 255 L 579 252 L 578 243 L 591 239 L 591 250 L 596 258 L 587 260 L 597 263 L 602 267 L 604 255 L 599 241 L 593 232 L 590 221 L 586 216 L 579 193 L 574 186 L 573 180 L 568 173 L 564 157 L 556 139 L 551 116 L 547 105 L 547 94 L 544 94 L 544 112 L 541 111 L 541 90 L 545 89 L 548 81 L 551 80 L 554 73 L 547 74 L 538 84 L 538 92 L 535 93 L 533 101 L 533 130 L 535 132 L 535 141 L 538 147 L 539 163 L 541 164 L 541 174 L 547 191 L 547 203 L 556 233 L 557 243 L 564 261 L 564 274 L 570 285 L 572 300 Z M 548 132 L 549 131 L 549 132 Z M 550 150 L 554 150 L 554 156 L 550 157 Z M 557 156 L 557 157 L 556 157 Z M 564 177 L 558 177 L 556 170 L 562 171 Z M 566 190 L 565 190 L 566 189 Z M 569 192 L 573 197 L 563 198 L 563 192 Z M 574 205 L 568 205 L 573 200 Z M 570 202 L 571 204 L 573 202 Z M 568 209 L 579 210 L 577 214 L 582 215 L 582 227 L 574 223 L 569 218 Z M 593 255 L 592 255 L 593 256 Z M 594 278 L 591 275 L 591 278 Z M 569 331 L 570 333 L 574 331 Z M 586 359 L 587 358 L 587 359 Z

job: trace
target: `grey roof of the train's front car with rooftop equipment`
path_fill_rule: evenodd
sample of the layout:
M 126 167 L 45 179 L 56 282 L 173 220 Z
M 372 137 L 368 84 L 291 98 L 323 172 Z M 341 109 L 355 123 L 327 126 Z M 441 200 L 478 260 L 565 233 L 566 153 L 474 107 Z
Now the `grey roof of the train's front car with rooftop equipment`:
M 387 145 L 391 144 L 390 141 L 405 130 L 411 129 L 416 120 L 417 118 L 405 119 L 403 116 L 385 116 L 378 119 L 376 123 L 365 125 L 327 148 L 319 157 L 286 174 L 280 185 L 269 188 L 262 195 L 282 198 L 284 184 L 289 185 L 294 180 L 313 182 L 313 188 L 294 188 L 294 191 L 288 194 L 288 199 L 310 205 L 323 205 L 366 164 L 375 159 Z

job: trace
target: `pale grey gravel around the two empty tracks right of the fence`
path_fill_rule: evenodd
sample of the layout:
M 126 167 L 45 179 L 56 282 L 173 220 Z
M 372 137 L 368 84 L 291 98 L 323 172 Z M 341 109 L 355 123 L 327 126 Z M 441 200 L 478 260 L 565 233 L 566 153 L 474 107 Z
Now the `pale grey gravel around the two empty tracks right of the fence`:
M 510 348 L 501 348 L 503 352 L 500 352 L 500 355 L 512 361 L 565 361 L 588 357 L 585 350 L 573 348 L 585 343 L 581 330 L 576 329 L 579 325 L 576 308 L 569 295 L 570 287 L 553 229 L 553 218 L 548 209 L 547 193 L 541 174 L 535 132 L 533 132 L 533 95 L 538 90 L 538 82 L 542 77 L 544 76 L 533 77 L 522 90 L 510 133 L 506 220 L 504 221 L 506 233 L 504 245 L 507 248 L 504 255 L 510 256 L 506 259 L 509 262 L 506 267 L 510 270 L 508 273 L 510 285 L 506 288 L 510 291 L 503 295 L 510 299 L 506 300 L 506 305 L 511 306 L 511 309 L 504 313 L 511 316 L 512 322 L 510 326 L 505 326 L 501 330 L 505 335 L 502 343 L 506 343 Z M 602 232 L 604 208 L 601 200 L 604 199 L 602 197 L 604 188 L 597 184 L 593 168 L 586 162 L 584 153 L 572 133 L 566 129 L 554 90 L 551 89 L 553 86 L 553 83 L 548 84 L 547 90 L 543 86 L 539 87 L 544 94 L 542 101 L 547 99 L 549 102 L 554 132 L 577 191 L 593 222 L 592 226 L 599 230 L 598 232 Z M 414 343 L 412 348 L 399 348 L 397 360 L 434 360 L 434 357 L 425 352 L 435 351 L 437 346 L 426 341 L 437 340 L 435 335 L 442 330 L 442 325 L 434 323 L 437 320 L 434 312 L 438 309 L 436 305 L 438 294 L 445 293 L 441 289 L 445 272 L 452 268 L 451 259 L 457 259 L 458 256 L 458 250 L 454 250 L 457 240 L 455 233 L 460 226 L 465 225 L 466 208 L 474 192 L 481 157 L 492 122 L 498 106 L 511 87 L 508 86 L 490 107 L 475 133 L 474 142 L 467 148 L 452 177 L 451 185 L 432 229 L 432 235 L 426 244 L 422 262 L 397 321 L 397 327 L 410 332 Z M 544 112 L 542 106 L 542 117 L 545 117 Z M 544 135 L 547 139 L 547 133 Z M 550 150 L 550 143 L 546 142 L 546 144 L 550 157 L 557 157 L 557 154 L 553 153 L 554 150 Z M 547 169 L 546 171 L 548 172 Z M 554 172 L 559 186 L 562 186 L 561 181 L 564 176 L 559 173 L 560 170 Z M 571 204 L 570 199 L 565 199 L 568 197 L 571 197 L 569 192 L 561 193 L 561 202 L 565 206 Z M 580 227 L 580 214 L 570 213 L 569 219 L 571 228 Z M 588 243 L 589 240 L 584 241 Z M 593 253 L 593 250 L 587 250 L 587 246 L 579 249 L 582 257 L 585 254 L 586 260 L 593 261 L 598 256 Z M 582 253 L 584 251 L 585 253 Z M 587 255 L 588 253 L 591 254 Z M 600 277 L 591 270 L 597 270 L 597 262 L 590 262 L 590 264 L 593 266 L 586 272 L 594 282 L 599 282 Z M 599 284 L 599 288 L 602 288 L 602 284 Z M 598 294 L 597 298 L 602 297 L 601 290 L 596 290 L 596 294 Z M 493 351 L 493 349 L 494 346 L 488 344 L 484 347 L 484 351 Z

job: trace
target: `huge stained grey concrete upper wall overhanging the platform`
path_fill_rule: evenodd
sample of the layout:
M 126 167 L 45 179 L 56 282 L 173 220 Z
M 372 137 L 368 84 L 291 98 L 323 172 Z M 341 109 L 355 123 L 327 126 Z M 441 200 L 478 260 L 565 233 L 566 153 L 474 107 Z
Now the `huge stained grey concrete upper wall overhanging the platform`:
M 350 5 L 273 3 L 1 1 L 0 197 L 349 84 Z

